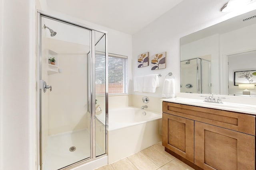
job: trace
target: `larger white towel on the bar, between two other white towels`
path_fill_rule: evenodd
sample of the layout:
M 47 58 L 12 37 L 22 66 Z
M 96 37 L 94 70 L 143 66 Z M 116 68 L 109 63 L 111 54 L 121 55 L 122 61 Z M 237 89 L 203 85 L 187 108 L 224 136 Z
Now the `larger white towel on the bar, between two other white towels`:
M 155 93 L 159 86 L 158 74 L 144 76 L 143 92 Z

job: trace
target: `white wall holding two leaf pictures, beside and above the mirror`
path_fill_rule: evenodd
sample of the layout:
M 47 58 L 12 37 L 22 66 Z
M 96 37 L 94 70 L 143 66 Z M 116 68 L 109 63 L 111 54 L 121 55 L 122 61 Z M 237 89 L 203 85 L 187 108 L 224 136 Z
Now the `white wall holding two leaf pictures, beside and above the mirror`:
M 132 93 L 160 97 L 164 77 L 168 72 L 174 73 L 175 89 L 176 92 L 179 92 L 180 37 L 255 9 L 255 6 L 252 6 L 250 9 L 222 13 L 220 12 L 220 8 L 225 3 L 224 0 L 183 0 L 172 10 L 166 12 L 160 18 L 135 33 L 132 37 L 133 76 L 158 73 L 162 73 L 163 76 L 160 78 L 160 87 L 156 89 L 156 93 Z M 166 68 L 162 70 L 151 70 L 151 66 L 137 68 L 137 56 L 147 51 L 150 52 L 150 57 L 166 51 Z

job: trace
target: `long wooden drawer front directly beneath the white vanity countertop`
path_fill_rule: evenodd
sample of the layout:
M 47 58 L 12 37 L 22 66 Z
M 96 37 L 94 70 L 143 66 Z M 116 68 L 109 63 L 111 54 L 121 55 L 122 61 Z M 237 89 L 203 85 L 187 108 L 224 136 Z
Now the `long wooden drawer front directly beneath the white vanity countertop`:
M 163 102 L 163 112 L 255 136 L 255 116 L 233 111 Z

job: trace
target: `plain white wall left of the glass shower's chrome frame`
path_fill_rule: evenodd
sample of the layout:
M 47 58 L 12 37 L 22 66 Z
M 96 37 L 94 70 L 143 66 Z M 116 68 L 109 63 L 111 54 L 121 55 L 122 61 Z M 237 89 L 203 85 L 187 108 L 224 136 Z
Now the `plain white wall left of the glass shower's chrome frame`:
M 36 167 L 34 0 L 1 0 L 1 170 Z

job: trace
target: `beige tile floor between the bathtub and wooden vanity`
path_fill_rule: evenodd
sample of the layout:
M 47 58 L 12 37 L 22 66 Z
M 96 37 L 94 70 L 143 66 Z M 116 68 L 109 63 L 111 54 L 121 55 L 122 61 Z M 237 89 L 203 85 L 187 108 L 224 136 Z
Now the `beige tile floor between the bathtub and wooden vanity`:
M 157 143 L 122 160 L 102 166 L 96 170 L 194 170 Z

